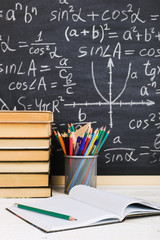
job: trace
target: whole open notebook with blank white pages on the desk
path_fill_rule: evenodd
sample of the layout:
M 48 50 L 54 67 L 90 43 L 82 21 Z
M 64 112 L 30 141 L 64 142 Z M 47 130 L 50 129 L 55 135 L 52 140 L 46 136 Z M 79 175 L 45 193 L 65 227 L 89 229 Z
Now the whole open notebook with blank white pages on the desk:
M 77 219 L 68 221 L 22 210 L 16 206 L 7 208 L 16 216 L 45 232 L 121 222 L 126 217 L 160 214 L 160 204 L 129 198 L 85 185 L 73 187 L 69 195 L 37 200 L 37 202 L 27 205 L 63 213 Z

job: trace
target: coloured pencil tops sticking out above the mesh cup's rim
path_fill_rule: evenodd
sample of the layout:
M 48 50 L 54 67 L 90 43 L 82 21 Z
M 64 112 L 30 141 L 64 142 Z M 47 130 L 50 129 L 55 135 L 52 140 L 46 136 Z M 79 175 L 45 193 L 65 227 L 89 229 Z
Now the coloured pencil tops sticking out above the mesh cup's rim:
M 78 130 L 75 129 L 73 124 L 68 124 L 68 134 L 56 130 L 54 130 L 54 134 L 65 155 L 68 152 L 71 156 L 88 156 L 96 155 L 100 151 L 110 133 L 109 130 L 104 137 L 105 131 L 106 127 L 96 128 L 92 133 L 91 123 L 87 123 Z M 69 138 L 69 144 L 66 142 L 67 137 Z

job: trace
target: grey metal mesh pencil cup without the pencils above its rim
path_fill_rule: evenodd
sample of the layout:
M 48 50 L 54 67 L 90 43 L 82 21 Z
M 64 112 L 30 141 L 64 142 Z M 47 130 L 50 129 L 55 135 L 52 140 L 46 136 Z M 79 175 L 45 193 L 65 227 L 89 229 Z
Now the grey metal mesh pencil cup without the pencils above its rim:
M 75 185 L 97 186 L 97 155 L 65 155 L 65 193 Z

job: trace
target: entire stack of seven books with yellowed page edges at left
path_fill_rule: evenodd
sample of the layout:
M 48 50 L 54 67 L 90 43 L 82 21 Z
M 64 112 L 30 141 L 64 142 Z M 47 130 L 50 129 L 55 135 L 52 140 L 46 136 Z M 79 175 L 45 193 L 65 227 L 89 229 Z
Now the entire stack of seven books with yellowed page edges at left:
M 0 111 L 0 197 L 50 197 L 53 113 Z

